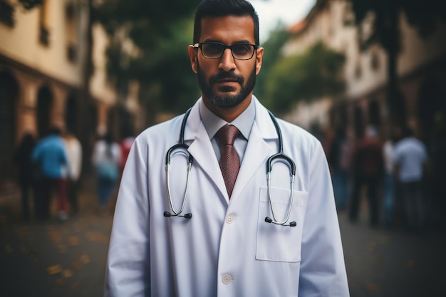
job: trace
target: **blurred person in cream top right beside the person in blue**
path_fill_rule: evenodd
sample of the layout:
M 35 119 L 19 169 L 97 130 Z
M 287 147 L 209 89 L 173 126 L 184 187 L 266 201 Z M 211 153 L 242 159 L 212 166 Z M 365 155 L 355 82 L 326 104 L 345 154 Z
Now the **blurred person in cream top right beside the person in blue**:
M 70 202 L 71 212 L 77 214 L 79 211 L 78 192 L 82 169 L 82 146 L 76 136 L 69 131 L 63 135 L 63 140 L 65 140 L 68 162 L 70 163 L 67 172 L 68 202 Z

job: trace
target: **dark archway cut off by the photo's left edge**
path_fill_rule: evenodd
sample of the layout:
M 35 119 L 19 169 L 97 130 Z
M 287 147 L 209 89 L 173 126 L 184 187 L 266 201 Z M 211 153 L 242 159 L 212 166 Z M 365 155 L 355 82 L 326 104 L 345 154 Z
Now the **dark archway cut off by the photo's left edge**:
M 7 71 L 0 72 L 0 178 L 12 179 L 16 145 L 16 105 L 19 84 Z

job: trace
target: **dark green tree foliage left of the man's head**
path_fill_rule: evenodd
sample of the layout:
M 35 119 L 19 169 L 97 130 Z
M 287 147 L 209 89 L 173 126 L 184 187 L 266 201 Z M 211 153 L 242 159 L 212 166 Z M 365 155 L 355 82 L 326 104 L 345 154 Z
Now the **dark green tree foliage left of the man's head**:
M 148 108 L 184 111 L 196 100 L 195 75 L 187 46 L 192 42 L 193 13 L 199 0 L 104 0 L 94 18 L 110 36 L 108 75 L 125 93 L 128 80 L 142 85 Z M 129 53 L 123 36 L 138 50 Z

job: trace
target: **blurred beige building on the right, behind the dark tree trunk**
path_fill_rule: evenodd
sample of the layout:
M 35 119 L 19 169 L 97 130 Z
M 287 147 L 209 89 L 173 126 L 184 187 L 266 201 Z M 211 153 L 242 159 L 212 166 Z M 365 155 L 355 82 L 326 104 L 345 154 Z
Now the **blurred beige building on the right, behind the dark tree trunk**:
M 304 123 L 299 124 L 307 127 L 315 121 L 324 127 L 351 127 L 356 137 L 361 137 L 365 125 L 370 124 L 386 137 L 388 54 L 378 44 L 361 49 L 354 18 L 349 1 L 318 0 L 304 20 L 291 26 L 284 54 L 303 53 L 316 42 L 343 53 L 346 91 L 314 103 L 299 103 L 289 120 L 299 123 L 304 118 Z M 400 14 L 399 24 L 400 110 L 417 135 L 427 140 L 435 120 L 446 118 L 446 26 L 438 23 L 434 32 L 422 37 L 408 24 L 404 14 Z M 367 32 L 370 21 L 365 20 L 362 26 Z

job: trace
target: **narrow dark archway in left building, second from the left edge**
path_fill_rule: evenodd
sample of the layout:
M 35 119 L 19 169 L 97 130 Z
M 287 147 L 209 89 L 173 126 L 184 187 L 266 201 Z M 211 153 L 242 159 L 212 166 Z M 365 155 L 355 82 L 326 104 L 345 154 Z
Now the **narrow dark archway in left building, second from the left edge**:
M 53 93 L 48 86 L 43 86 L 37 94 L 37 132 L 40 138 L 50 132 L 51 110 L 53 110 Z

